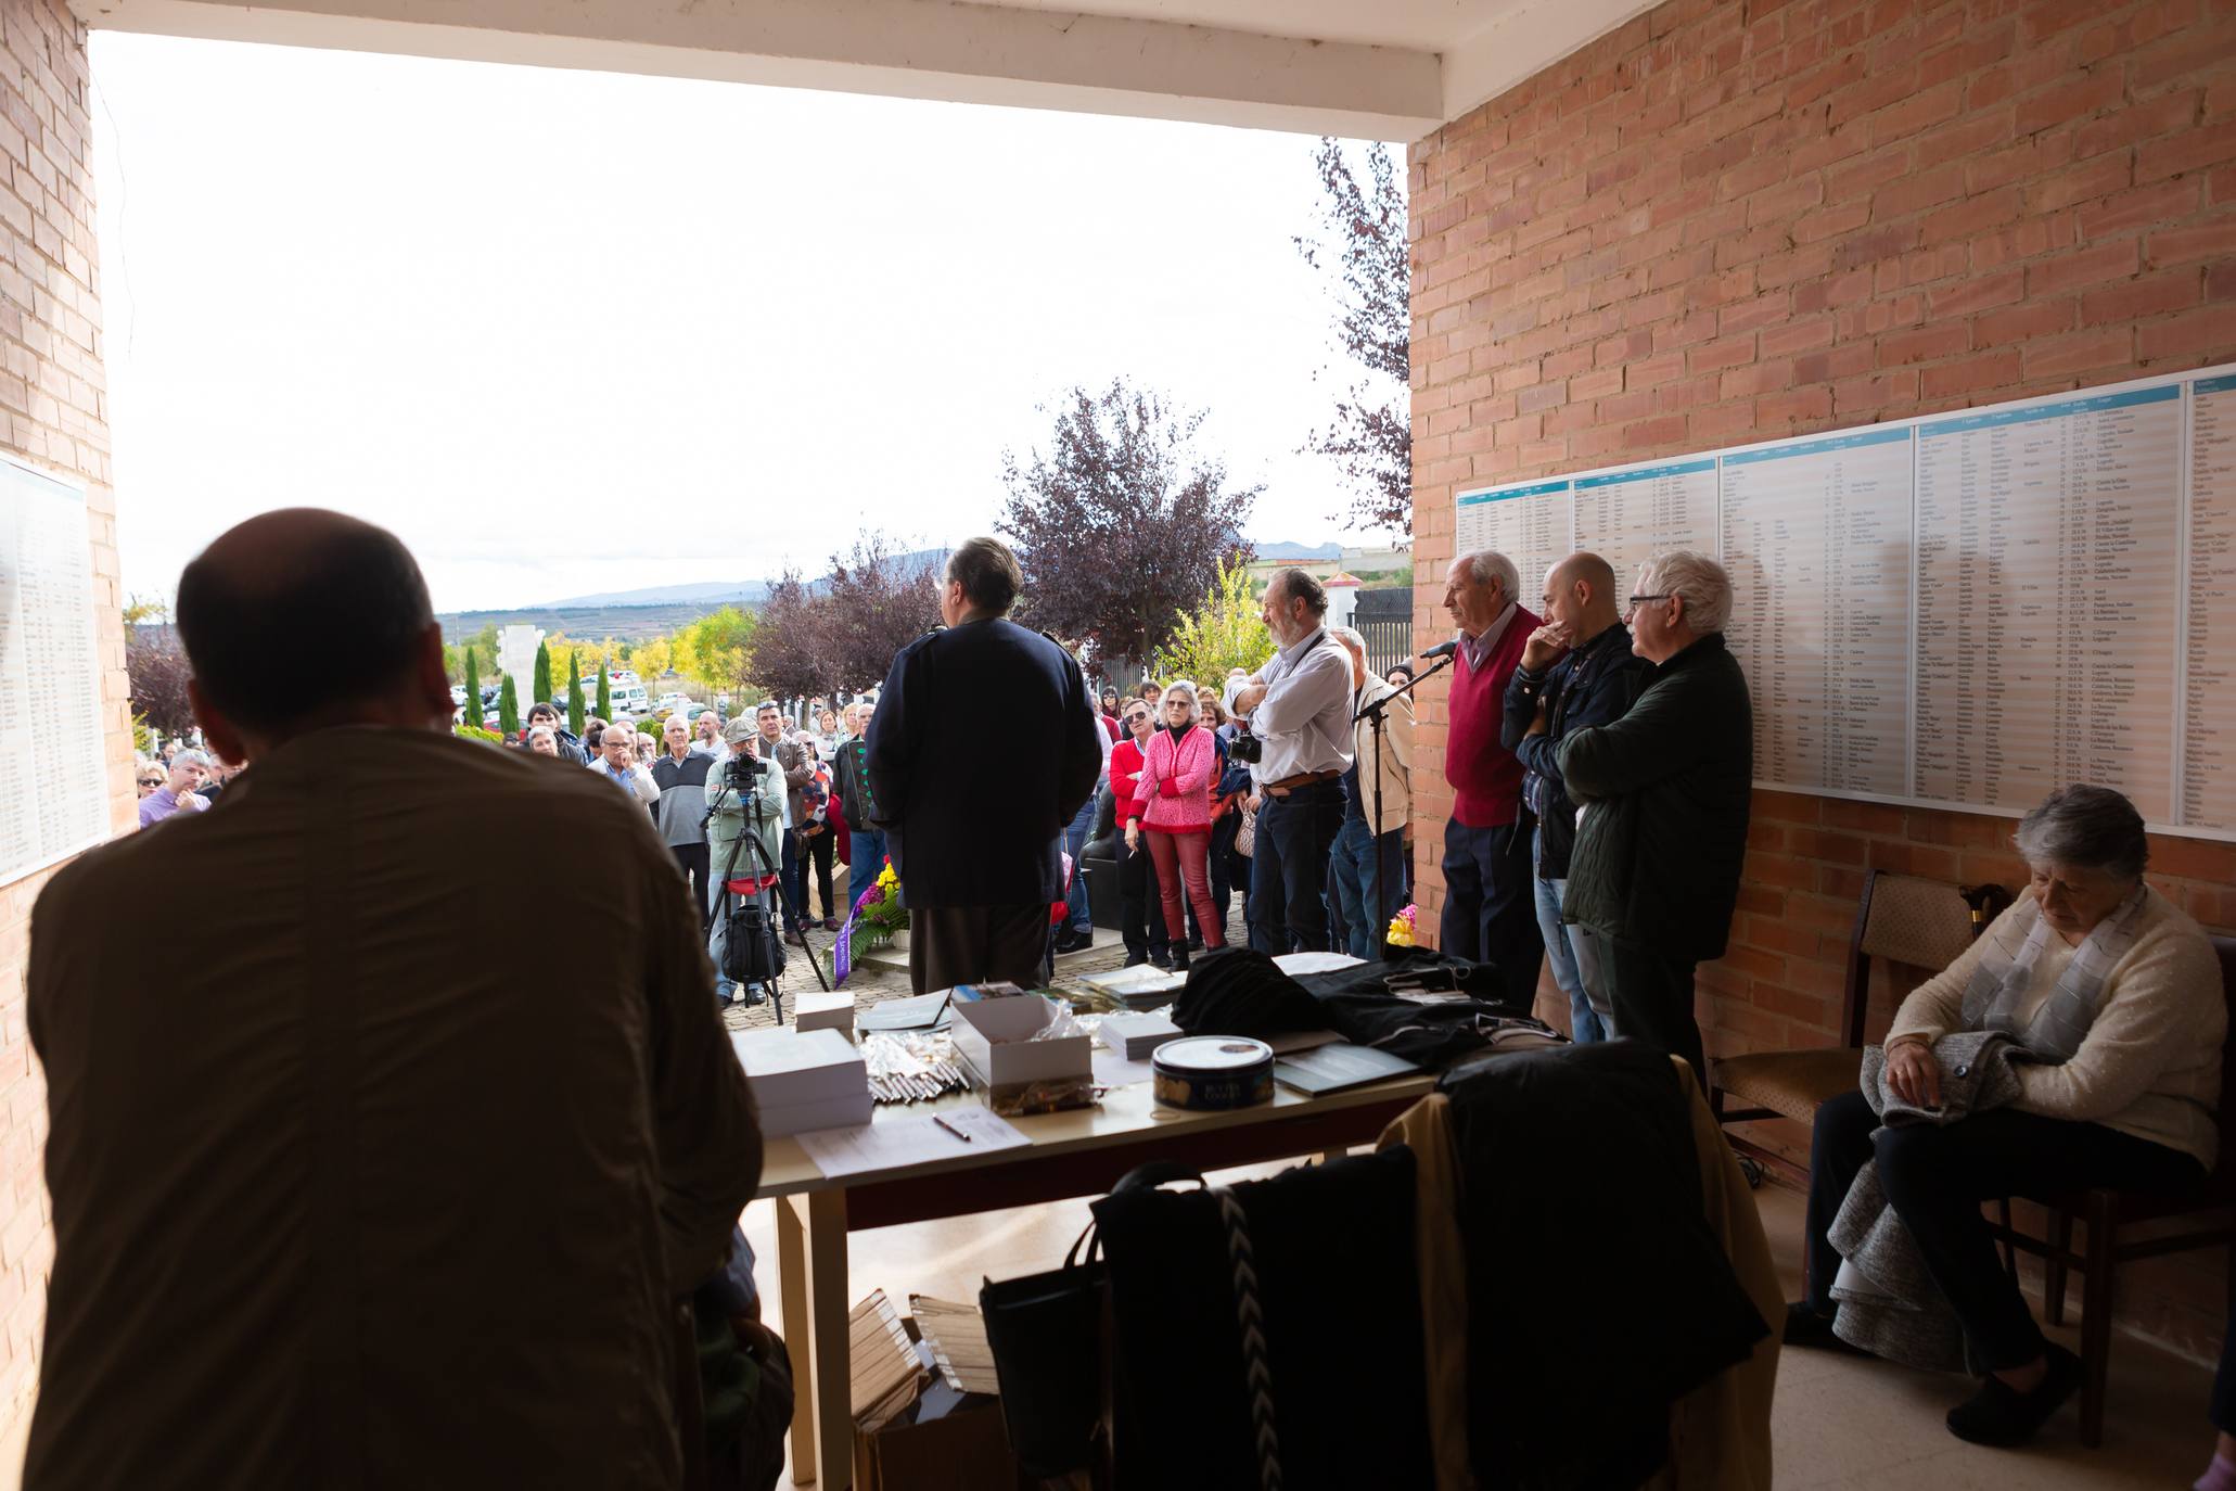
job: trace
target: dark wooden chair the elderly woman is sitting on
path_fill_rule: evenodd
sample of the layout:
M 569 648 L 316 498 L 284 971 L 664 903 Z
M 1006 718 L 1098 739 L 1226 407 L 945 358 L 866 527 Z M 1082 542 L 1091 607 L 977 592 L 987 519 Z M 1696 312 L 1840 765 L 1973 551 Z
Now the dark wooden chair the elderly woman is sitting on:
M 2066 1321 L 2066 1279 L 2082 1270 L 2082 1444 L 2104 1444 L 2104 1379 L 2111 1368 L 2111 1308 L 2117 1270 L 2131 1259 L 2158 1259 L 2198 1247 L 2229 1250 L 2229 1288 L 2236 1292 L 2236 937 L 2214 937 L 2220 955 L 2220 995 L 2229 1001 L 2229 1035 L 2220 1046 L 2220 1167 L 2187 1196 L 2151 1196 L 2097 1187 L 2064 1196 L 2026 1196 L 2048 1209 L 2048 1238 L 2033 1238 L 2010 1223 L 2010 1203 L 1988 1229 L 2006 1250 L 2044 1261 L 2041 1314 Z M 2086 1247 L 2073 1245 L 2073 1221 L 2088 1229 Z M 2151 1236 L 2133 1236 L 2147 1223 Z M 2126 1234 L 2126 1236 L 2122 1236 Z

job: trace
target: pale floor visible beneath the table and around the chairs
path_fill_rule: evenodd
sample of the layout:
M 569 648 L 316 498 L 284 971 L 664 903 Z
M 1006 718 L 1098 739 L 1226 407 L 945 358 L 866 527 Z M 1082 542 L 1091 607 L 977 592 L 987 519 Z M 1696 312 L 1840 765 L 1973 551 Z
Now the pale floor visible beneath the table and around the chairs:
M 1800 1196 L 1757 1191 L 1762 1223 L 1787 1276 L 1800 1288 Z M 883 1288 L 977 1299 L 979 1281 L 1055 1267 L 1087 1225 L 1087 1203 L 995 1212 L 975 1218 L 859 1232 L 852 1243 L 854 1297 Z M 774 1203 L 754 1203 L 747 1234 L 762 1259 L 774 1312 Z M 780 1328 L 780 1326 L 778 1326 Z M 2073 1332 L 2064 1332 L 2077 1346 Z M 1784 1352 L 1778 1368 L 1773 1442 L 1778 1487 L 1793 1491 L 2064 1491 L 2187 1487 L 2211 1455 L 2205 1424 L 2211 1373 L 2117 1339 L 2104 1449 L 2079 1444 L 2073 1408 L 2024 1451 L 1990 1451 L 1954 1440 L 1941 1422 L 1968 1381 L 1912 1373 L 1847 1355 Z M 780 1482 L 789 1487 L 792 1482 Z

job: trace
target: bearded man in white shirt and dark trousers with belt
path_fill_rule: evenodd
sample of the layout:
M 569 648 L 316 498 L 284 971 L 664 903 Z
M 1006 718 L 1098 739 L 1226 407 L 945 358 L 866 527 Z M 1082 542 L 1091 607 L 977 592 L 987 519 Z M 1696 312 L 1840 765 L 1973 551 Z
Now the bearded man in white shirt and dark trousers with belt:
M 1243 715 L 1263 756 L 1250 870 L 1250 946 L 1326 952 L 1328 852 L 1344 825 L 1351 771 L 1351 655 L 1328 635 L 1328 592 L 1304 570 L 1266 586 L 1266 630 L 1279 648 L 1263 668 L 1228 680 L 1228 713 Z

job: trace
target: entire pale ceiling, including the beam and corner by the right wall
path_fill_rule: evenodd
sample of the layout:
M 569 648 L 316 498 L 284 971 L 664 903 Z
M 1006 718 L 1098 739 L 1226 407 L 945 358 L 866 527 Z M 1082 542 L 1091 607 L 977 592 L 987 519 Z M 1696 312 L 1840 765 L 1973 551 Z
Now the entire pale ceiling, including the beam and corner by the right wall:
M 87 27 L 1413 141 L 1652 0 L 69 0 Z

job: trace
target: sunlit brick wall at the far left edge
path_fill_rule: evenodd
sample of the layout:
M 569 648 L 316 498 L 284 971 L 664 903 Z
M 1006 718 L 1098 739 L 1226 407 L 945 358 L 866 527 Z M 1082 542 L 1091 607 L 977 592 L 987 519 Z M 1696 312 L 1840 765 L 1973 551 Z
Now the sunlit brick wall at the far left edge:
M 132 731 L 110 490 L 107 393 L 87 159 L 85 31 L 60 0 L 0 0 L 0 445 L 87 483 L 112 820 L 132 823 Z M 0 1428 L 38 1375 L 47 1305 L 47 1091 L 22 1026 L 31 903 L 0 885 Z

